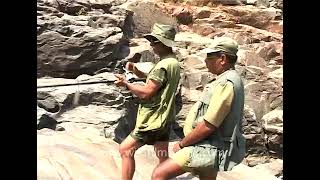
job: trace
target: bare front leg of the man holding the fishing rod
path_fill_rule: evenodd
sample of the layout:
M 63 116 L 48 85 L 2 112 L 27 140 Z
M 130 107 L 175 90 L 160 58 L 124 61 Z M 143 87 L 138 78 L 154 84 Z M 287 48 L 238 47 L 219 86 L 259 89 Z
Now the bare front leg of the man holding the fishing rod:
M 122 180 L 131 180 L 135 171 L 134 153 L 142 146 L 130 135 L 120 144 L 119 153 L 122 159 Z

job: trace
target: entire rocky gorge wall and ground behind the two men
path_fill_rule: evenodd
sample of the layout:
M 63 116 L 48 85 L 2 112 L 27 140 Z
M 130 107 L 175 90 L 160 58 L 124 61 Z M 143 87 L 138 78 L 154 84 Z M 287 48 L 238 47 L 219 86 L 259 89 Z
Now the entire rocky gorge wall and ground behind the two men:
M 214 37 L 234 38 L 240 45 L 236 69 L 245 83 L 247 157 L 238 171 L 219 177 L 234 179 L 250 167 L 255 169 L 246 171 L 252 173 L 238 178 L 257 179 L 262 165 L 268 167 L 266 179 L 282 176 L 282 1 L 38 0 L 37 18 L 38 85 L 114 80 L 113 73 L 122 72 L 121 60 L 135 54 L 142 67 L 157 62 L 142 35 L 155 22 L 176 25 L 174 51 L 182 79 L 171 141 L 181 136 L 188 110 L 212 78 L 198 52 Z M 112 83 L 44 88 L 37 94 L 38 177 L 118 179 L 112 175 L 121 170 L 117 144 L 109 140 L 119 143 L 132 130 L 139 99 Z M 98 161 L 92 172 L 80 171 Z M 138 155 L 138 163 L 155 166 L 156 161 Z M 151 174 L 152 168 L 143 168 Z M 135 178 L 148 179 L 148 173 L 139 171 Z

